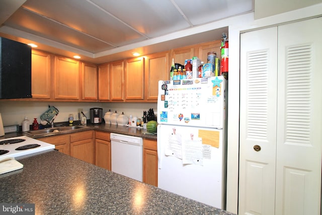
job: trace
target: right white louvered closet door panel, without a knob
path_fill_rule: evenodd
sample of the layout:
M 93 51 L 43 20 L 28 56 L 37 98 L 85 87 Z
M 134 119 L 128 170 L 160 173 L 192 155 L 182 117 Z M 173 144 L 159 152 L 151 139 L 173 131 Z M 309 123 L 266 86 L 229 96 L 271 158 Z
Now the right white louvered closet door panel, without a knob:
M 320 214 L 322 18 L 278 27 L 276 213 Z

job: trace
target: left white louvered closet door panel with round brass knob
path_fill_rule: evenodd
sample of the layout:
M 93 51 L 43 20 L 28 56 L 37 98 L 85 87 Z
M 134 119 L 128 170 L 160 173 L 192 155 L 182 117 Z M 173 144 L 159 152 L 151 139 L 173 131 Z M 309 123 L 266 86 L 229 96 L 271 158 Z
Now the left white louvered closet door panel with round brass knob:
M 276 44 L 277 27 L 240 35 L 238 214 L 275 210 Z

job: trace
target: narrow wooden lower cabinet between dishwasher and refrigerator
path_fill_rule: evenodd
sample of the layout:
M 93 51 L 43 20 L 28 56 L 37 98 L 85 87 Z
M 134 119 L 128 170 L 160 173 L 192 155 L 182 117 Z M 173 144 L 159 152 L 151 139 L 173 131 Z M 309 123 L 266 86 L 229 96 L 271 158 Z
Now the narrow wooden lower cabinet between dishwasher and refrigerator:
M 143 139 L 143 182 L 157 187 L 156 139 Z

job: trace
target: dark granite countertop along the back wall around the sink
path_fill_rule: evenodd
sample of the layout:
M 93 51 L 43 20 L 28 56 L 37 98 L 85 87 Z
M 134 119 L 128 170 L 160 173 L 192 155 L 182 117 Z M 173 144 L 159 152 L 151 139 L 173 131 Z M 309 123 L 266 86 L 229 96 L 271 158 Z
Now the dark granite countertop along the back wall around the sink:
M 44 134 L 44 135 L 29 135 L 24 132 L 13 132 L 13 133 L 8 133 L 5 134 L 5 136 L 1 136 L 0 139 L 4 138 L 11 138 L 11 137 L 16 137 L 16 136 L 29 136 L 32 138 L 41 138 L 41 137 L 47 137 L 47 136 L 53 136 L 53 135 L 61 135 L 61 134 L 66 134 L 66 133 L 73 133 L 73 132 L 79 132 L 79 131 L 85 131 L 85 130 L 97 130 L 97 131 L 105 131 L 105 132 L 111 132 L 111 133 L 120 133 L 120 134 L 125 134 L 125 135 L 130 135 L 130 136 L 139 136 L 143 138 L 149 138 L 149 139 L 155 139 L 156 140 L 156 135 L 153 134 L 148 134 L 146 129 L 143 128 L 135 128 L 135 127 L 127 127 L 127 126 L 120 126 L 120 125 L 111 125 L 111 124 L 87 124 L 86 127 L 88 129 L 80 129 L 80 130 L 70 130 L 68 132 L 63 132 L 63 133 L 49 133 L 49 134 Z

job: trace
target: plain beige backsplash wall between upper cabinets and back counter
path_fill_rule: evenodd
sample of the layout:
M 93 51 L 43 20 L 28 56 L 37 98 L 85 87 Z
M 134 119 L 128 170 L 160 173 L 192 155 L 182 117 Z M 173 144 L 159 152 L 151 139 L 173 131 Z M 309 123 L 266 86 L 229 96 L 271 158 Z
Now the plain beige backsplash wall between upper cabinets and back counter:
M 48 105 L 55 106 L 59 110 L 55 122 L 68 121 L 68 114 L 74 114 L 74 120 L 78 120 L 77 111 L 83 109 L 86 117 L 90 119 L 90 108 L 103 108 L 103 117 L 106 112 L 124 112 L 125 115 L 142 117 L 143 110 L 153 108 L 156 114 L 156 103 L 100 103 L 100 102 L 32 102 L 32 101 L 0 101 L 0 113 L 4 126 L 21 125 L 25 116 L 32 122 L 34 118 L 40 121 L 40 115 L 48 109 Z

